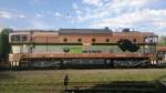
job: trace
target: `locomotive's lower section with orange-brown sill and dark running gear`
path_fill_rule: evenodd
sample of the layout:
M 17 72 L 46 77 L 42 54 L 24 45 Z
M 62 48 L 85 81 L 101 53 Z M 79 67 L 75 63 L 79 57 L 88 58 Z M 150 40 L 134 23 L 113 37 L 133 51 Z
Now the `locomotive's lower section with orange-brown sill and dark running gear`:
M 155 65 L 152 54 L 142 53 L 22 53 L 10 54 L 11 68 L 136 68 Z

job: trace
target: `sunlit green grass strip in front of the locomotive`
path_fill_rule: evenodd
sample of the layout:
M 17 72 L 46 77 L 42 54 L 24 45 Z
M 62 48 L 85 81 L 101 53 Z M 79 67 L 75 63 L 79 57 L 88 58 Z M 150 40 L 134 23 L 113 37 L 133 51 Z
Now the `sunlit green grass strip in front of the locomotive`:
M 63 90 L 63 75 L 76 85 L 83 82 L 154 81 L 166 75 L 166 69 L 114 70 L 42 70 L 0 72 L 0 93 L 59 93 Z M 73 84 L 73 83 L 70 83 Z

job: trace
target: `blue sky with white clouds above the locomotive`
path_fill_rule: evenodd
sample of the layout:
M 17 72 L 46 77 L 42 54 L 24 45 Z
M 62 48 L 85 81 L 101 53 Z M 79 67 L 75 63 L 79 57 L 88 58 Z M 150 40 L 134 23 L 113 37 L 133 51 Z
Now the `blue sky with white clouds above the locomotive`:
M 166 0 L 0 0 L 0 28 L 105 27 L 166 35 Z

